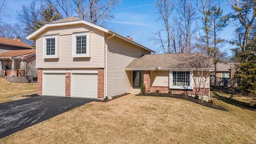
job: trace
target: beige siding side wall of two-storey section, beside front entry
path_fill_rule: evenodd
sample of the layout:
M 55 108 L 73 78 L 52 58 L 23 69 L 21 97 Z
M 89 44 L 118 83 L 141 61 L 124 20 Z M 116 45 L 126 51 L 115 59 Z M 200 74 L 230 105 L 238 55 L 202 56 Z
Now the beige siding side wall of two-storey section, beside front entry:
M 150 54 L 150 51 L 116 37 L 108 39 L 107 96 L 116 96 L 132 90 L 132 71 L 125 71 L 124 68 L 134 58 L 140 58 L 143 54 Z

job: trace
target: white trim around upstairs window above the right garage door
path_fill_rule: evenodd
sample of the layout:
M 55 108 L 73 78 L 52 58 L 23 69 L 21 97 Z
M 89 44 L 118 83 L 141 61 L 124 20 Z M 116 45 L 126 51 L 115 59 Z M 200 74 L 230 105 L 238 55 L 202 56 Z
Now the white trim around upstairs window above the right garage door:
M 86 54 L 76 54 L 76 37 L 86 36 Z M 90 57 L 90 32 L 72 34 L 72 56 L 73 58 Z

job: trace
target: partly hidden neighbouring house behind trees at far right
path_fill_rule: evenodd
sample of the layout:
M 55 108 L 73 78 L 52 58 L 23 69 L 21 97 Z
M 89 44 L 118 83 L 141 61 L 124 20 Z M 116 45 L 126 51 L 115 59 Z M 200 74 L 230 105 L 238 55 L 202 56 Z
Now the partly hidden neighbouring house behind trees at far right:
M 217 78 L 233 78 L 235 72 L 236 66 L 234 63 L 217 63 Z

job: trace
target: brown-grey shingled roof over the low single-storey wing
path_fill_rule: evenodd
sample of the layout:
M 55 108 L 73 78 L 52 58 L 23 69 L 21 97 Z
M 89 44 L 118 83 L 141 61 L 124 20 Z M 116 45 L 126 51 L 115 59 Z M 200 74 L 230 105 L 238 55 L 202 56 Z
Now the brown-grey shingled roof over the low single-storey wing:
M 167 69 L 176 69 L 176 68 L 188 68 L 188 62 L 191 62 L 190 68 L 195 68 L 192 66 L 194 60 L 198 57 L 204 56 L 205 54 L 201 53 L 190 53 L 190 54 L 146 54 L 141 58 L 134 58 L 126 69 L 146 69 L 146 68 L 167 68 Z

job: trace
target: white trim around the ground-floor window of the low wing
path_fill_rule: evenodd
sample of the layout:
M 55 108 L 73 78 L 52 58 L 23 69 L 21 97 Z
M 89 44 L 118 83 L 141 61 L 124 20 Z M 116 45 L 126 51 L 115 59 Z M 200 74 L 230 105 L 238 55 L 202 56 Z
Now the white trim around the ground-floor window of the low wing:
M 184 72 L 188 72 L 188 70 L 175 70 L 175 72 L 180 72 L 180 71 L 184 71 Z M 194 88 L 194 79 L 193 79 L 193 75 L 194 75 L 194 71 L 190 72 L 190 77 L 189 77 L 189 82 L 190 82 L 190 86 L 174 86 L 173 85 L 173 71 L 169 71 L 169 88 L 171 89 L 189 89 L 189 90 L 193 90 Z

